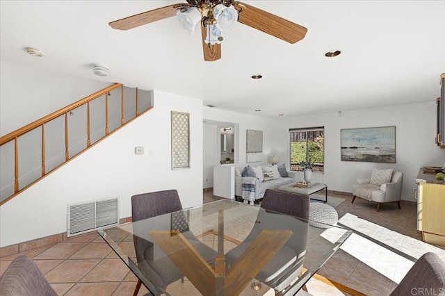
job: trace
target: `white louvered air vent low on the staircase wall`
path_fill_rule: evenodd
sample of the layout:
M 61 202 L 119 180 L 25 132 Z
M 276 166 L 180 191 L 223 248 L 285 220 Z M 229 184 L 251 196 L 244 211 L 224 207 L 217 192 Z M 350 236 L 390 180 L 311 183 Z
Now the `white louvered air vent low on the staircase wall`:
M 67 236 L 119 224 L 118 198 L 68 204 Z

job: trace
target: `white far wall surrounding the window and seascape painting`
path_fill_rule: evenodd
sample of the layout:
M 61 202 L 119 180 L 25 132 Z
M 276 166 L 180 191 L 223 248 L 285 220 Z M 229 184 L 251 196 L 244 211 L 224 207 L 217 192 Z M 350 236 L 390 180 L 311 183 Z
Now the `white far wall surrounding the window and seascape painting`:
M 415 179 L 422 165 L 442 166 L 445 149 L 435 145 L 436 104 L 391 106 L 369 110 L 284 118 L 275 122 L 275 151 L 289 167 L 289 129 L 325 126 L 325 172 L 314 181 L 330 190 L 352 192 L 357 178 L 369 177 L 373 167 L 392 167 L 403 172 L 402 199 L 414 201 Z M 340 160 L 340 130 L 373 126 L 396 126 L 396 163 L 362 163 Z M 302 176 L 301 176 L 302 179 Z

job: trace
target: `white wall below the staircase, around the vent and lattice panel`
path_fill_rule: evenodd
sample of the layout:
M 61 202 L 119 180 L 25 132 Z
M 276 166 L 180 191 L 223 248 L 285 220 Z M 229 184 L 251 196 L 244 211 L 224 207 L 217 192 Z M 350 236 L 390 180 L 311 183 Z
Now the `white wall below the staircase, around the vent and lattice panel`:
M 188 169 L 171 170 L 172 110 L 190 113 Z M 66 232 L 67 204 L 119 197 L 129 217 L 131 195 L 165 189 L 177 189 L 184 208 L 202 204 L 202 101 L 154 91 L 152 110 L 0 207 L 0 247 Z

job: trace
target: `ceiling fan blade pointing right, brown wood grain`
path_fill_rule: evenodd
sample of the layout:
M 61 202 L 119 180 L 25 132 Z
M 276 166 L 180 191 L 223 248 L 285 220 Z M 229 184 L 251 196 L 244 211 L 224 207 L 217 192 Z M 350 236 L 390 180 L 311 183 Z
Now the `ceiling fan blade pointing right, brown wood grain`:
M 304 26 L 242 2 L 236 1 L 233 5 L 239 11 L 238 22 L 241 24 L 251 26 L 289 43 L 295 43 L 305 38 L 307 28 Z

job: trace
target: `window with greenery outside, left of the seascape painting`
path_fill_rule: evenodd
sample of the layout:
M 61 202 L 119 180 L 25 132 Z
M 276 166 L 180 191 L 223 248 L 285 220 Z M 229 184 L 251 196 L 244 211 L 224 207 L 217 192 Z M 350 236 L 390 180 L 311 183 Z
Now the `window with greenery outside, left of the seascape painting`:
M 291 171 L 304 170 L 302 161 L 313 164 L 314 172 L 323 172 L 325 167 L 325 128 L 289 129 L 291 142 Z

